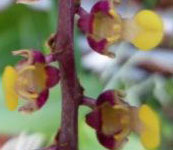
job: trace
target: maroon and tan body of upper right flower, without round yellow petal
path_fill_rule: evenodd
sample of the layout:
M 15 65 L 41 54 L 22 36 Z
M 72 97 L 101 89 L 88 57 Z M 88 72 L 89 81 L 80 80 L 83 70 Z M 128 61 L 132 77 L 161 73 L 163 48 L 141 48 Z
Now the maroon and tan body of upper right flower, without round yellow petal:
M 122 20 L 114 11 L 113 4 L 102 0 L 93 6 L 90 13 L 80 8 L 79 15 L 78 26 L 87 35 L 91 48 L 103 55 L 114 57 L 108 47 L 120 40 Z

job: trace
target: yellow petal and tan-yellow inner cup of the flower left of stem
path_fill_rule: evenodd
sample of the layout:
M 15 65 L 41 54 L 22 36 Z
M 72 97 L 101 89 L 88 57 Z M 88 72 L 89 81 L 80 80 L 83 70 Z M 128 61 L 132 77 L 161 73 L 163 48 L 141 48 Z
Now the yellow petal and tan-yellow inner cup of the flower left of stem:
M 8 109 L 15 110 L 17 108 L 19 96 L 26 100 L 36 100 L 39 94 L 46 89 L 46 81 L 44 64 L 36 63 L 20 70 L 7 66 L 2 82 Z

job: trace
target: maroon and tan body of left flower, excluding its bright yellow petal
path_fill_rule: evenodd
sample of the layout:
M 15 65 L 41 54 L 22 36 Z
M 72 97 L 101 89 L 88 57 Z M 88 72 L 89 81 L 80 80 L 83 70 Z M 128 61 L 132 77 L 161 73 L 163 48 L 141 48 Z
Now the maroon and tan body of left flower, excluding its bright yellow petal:
M 15 68 L 17 72 L 15 92 L 27 101 L 27 104 L 19 110 L 27 113 L 33 112 L 46 103 L 49 88 L 59 82 L 59 70 L 47 64 L 45 56 L 39 51 L 21 50 L 13 54 L 24 57 Z

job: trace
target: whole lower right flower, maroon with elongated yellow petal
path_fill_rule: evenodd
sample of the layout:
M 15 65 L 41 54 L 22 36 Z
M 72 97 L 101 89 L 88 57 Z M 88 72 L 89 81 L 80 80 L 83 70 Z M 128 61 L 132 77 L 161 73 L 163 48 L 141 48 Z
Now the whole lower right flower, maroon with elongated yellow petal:
M 160 119 L 156 112 L 147 105 L 130 106 L 118 91 L 102 93 L 86 122 L 96 130 L 99 142 L 111 150 L 120 148 L 131 132 L 139 134 L 146 149 L 160 144 Z

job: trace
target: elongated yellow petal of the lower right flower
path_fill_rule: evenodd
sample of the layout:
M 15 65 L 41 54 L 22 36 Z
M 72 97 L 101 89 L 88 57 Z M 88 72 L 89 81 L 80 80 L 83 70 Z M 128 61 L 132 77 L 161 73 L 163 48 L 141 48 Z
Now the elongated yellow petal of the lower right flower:
M 160 144 L 160 120 L 158 115 L 147 105 L 139 109 L 142 123 L 141 142 L 147 149 L 155 149 Z

